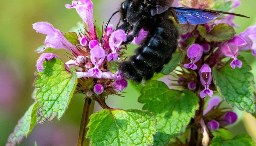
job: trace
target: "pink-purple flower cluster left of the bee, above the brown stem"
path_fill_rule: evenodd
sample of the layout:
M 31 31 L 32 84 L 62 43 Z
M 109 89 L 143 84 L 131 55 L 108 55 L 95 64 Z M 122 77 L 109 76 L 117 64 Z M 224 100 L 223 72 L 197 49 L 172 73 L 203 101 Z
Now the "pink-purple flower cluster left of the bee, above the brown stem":
M 67 71 L 70 67 L 76 69 L 76 75 L 79 78 L 76 87 L 77 93 L 84 93 L 87 96 L 103 97 L 108 94 L 117 94 L 127 87 L 127 81 L 122 79 L 118 68 L 110 70 L 109 64 L 116 64 L 118 51 L 123 41 L 126 41 L 126 35 L 123 30 L 116 30 L 112 26 L 107 26 L 104 35 L 99 39 L 93 18 L 93 3 L 90 0 L 73 1 L 71 5 L 66 4 L 66 8 L 75 8 L 79 16 L 83 19 L 85 32 L 61 33 L 51 24 L 46 22 L 34 23 L 33 28 L 39 33 L 46 34 L 44 41 L 45 47 L 38 53 L 44 52 L 48 48 L 66 49 L 73 55 L 71 60 L 65 63 Z M 68 40 L 67 35 L 72 34 L 76 41 Z M 122 49 L 122 48 L 121 48 Z M 52 53 L 43 53 L 37 61 L 37 70 L 44 70 L 43 61 L 49 61 L 52 58 L 59 58 Z M 91 86 L 86 81 L 91 81 Z M 85 88 L 88 87 L 88 88 Z M 89 88 L 90 87 L 90 88 Z M 105 91 L 105 92 L 104 92 Z M 106 92 L 107 91 L 107 92 Z

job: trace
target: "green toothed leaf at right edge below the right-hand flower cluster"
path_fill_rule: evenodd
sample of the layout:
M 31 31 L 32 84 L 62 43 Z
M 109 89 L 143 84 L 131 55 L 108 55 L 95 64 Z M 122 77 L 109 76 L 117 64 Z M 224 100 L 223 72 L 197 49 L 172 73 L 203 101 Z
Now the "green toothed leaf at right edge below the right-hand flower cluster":
M 247 65 L 244 58 L 238 57 L 243 62 L 242 68 L 231 68 L 230 59 L 226 66 L 221 69 L 213 68 L 213 81 L 221 96 L 231 106 L 249 113 L 255 112 L 255 96 L 253 74 L 251 67 Z

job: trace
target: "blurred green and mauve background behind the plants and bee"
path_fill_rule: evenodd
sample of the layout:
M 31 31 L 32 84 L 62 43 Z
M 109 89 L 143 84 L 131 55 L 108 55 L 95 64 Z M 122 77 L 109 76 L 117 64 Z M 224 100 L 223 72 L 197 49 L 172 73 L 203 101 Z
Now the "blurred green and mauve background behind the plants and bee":
M 115 12 L 120 1 L 118 0 L 92 0 L 94 2 L 94 19 L 101 26 L 109 16 Z M 81 18 L 75 9 L 66 9 L 65 4 L 71 4 L 71 0 L 44 0 L 44 1 L 3 1 L 0 9 L 0 145 L 5 145 L 9 134 L 13 132 L 20 117 L 23 116 L 30 104 L 33 103 L 31 94 L 33 92 L 34 72 L 36 60 L 40 54 L 35 49 L 43 45 L 45 35 L 36 33 L 32 24 L 40 21 L 51 23 L 56 29 L 68 32 L 76 26 Z M 244 31 L 248 26 L 256 24 L 255 0 L 241 0 L 242 5 L 235 9 L 240 13 L 251 17 L 235 17 L 234 23 L 241 26 L 236 32 Z M 111 23 L 115 26 L 117 16 Z M 59 57 L 68 60 L 63 54 L 65 50 L 55 51 Z M 255 58 L 251 53 L 242 53 L 247 62 L 253 67 L 252 72 L 256 74 Z M 113 108 L 141 108 L 137 103 L 139 94 L 128 87 L 123 95 L 126 97 L 109 96 L 107 103 Z M 75 95 L 71 100 L 69 108 L 64 116 L 57 121 L 36 125 L 31 134 L 25 138 L 20 146 L 70 146 L 77 144 L 80 118 L 83 108 L 84 96 Z M 95 110 L 101 110 L 96 106 Z M 231 129 L 233 134 L 250 133 L 256 140 L 255 119 L 250 115 L 243 116 L 243 121 L 238 122 Z M 251 119 L 249 119 L 251 118 Z M 249 119 L 249 120 L 248 120 Z M 254 121 L 253 121 L 254 120 Z M 248 122 L 249 121 L 249 122 Z M 248 123 L 246 123 L 248 122 Z M 244 126 L 243 123 L 246 123 Z M 253 127 L 250 127 L 251 124 Z M 249 126 L 249 127 L 248 127 Z M 248 130 L 249 129 L 249 130 Z M 250 130 L 252 129 L 252 130 Z

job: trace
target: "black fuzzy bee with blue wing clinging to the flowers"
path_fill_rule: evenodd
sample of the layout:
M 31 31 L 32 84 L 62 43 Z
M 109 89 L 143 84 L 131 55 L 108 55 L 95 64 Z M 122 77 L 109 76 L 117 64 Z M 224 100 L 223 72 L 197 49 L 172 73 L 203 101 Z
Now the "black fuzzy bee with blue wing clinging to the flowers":
M 216 19 L 220 14 L 231 14 L 207 9 L 171 7 L 173 0 L 126 0 L 121 4 L 120 15 L 123 24 L 117 29 L 124 30 L 129 43 L 143 28 L 148 31 L 135 55 L 121 66 L 123 78 L 141 82 L 149 80 L 154 73 L 162 70 L 177 48 L 178 31 L 170 16 L 179 24 L 204 24 Z

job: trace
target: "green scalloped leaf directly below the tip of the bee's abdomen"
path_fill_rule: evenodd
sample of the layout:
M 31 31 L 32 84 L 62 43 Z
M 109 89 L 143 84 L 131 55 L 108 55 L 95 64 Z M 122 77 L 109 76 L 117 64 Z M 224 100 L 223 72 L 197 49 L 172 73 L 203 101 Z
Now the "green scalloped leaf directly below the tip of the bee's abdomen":
M 198 97 L 193 92 L 170 90 L 160 81 L 146 82 L 141 94 L 138 101 L 145 103 L 143 109 L 155 113 L 157 119 L 155 145 L 166 144 L 171 135 L 187 126 L 199 107 Z

